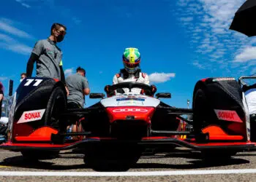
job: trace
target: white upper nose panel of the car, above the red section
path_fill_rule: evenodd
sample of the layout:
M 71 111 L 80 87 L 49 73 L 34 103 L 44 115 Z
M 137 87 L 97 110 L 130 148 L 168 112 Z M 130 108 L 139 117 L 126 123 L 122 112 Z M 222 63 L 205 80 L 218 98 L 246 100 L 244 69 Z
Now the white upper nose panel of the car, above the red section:
M 151 106 L 157 107 L 160 100 L 135 93 L 118 94 L 110 98 L 104 98 L 100 101 L 104 107 L 113 106 Z

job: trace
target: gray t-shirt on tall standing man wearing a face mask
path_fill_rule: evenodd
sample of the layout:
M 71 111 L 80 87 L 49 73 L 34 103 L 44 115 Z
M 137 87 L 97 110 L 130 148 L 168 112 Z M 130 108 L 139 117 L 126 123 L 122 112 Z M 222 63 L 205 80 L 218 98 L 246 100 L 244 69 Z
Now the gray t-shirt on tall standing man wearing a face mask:
M 54 41 L 43 39 L 37 41 L 32 52 L 39 56 L 37 60 L 37 77 L 61 79 L 62 52 Z

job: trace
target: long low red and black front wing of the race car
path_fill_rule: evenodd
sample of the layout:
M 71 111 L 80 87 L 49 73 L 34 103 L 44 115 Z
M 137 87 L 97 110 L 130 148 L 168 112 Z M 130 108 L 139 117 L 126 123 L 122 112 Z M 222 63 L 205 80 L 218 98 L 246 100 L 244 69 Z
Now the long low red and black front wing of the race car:
M 145 149 L 157 148 L 161 146 L 162 149 L 166 149 L 170 145 L 176 145 L 186 147 L 188 149 L 194 149 L 196 151 L 204 151 L 208 149 L 228 149 L 243 151 L 244 149 L 255 149 L 256 143 L 251 142 L 230 142 L 230 143 L 192 143 L 189 141 L 167 138 L 167 137 L 151 137 L 143 138 L 140 141 L 129 141 L 129 140 L 117 140 L 116 138 L 87 138 L 82 141 L 76 141 L 74 143 L 64 144 L 53 144 L 53 143 L 3 143 L 0 145 L 0 149 L 6 149 L 10 151 L 23 151 L 23 150 L 50 150 L 50 151 L 61 151 L 68 149 L 75 149 L 77 147 L 86 149 L 91 145 L 105 145 L 105 144 L 136 144 L 143 146 Z

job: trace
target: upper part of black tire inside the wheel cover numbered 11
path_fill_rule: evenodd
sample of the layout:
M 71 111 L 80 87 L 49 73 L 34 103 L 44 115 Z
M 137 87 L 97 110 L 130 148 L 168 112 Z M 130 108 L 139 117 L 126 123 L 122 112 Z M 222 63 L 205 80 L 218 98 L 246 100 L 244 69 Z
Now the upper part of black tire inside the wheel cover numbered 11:
M 61 113 L 67 108 L 67 97 L 61 87 L 54 88 L 45 110 L 45 125 L 60 128 Z

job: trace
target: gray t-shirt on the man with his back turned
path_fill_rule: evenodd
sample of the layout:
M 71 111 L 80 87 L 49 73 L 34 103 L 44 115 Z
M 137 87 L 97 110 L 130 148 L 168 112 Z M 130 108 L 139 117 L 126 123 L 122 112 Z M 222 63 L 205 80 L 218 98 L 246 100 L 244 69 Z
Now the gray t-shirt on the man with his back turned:
M 79 103 L 81 107 L 85 103 L 83 90 L 89 88 L 88 80 L 80 74 L 67 76 L 66 84 L 69 89 L 67 102 Z

